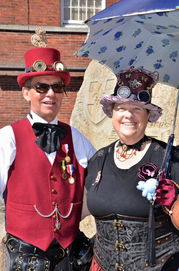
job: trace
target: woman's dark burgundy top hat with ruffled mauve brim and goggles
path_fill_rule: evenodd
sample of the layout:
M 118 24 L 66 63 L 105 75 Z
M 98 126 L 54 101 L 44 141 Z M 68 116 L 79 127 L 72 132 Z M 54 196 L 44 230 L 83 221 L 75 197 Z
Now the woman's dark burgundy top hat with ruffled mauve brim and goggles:
M 156 85 L 158 73 L 153 73 L 143 69 L 143 67 L 134 66 L 121 70 L 117 74 L 117 85 L 114 93 L 104 95 L 100 104 L 104 113 L 112 118 L 111 104 L 126 103 L 135 104 L 150 110 L 149 122 L 156 122 L 162 115 L 162 109 L 155 104 L 151 104 L 152 88 Z

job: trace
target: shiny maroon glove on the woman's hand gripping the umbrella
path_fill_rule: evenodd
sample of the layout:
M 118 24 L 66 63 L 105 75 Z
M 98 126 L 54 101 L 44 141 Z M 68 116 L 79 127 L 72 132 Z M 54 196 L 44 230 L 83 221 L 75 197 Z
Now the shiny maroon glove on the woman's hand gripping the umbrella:
M 163 177 L 164 172 L 162 172 L 161 179 L 156 188 L 155 202 L 157 204 L 164 205 L 170 209 L 176 198 L 175 185 L 173 182 L 171 182 L 171 180 L 163 179 Z

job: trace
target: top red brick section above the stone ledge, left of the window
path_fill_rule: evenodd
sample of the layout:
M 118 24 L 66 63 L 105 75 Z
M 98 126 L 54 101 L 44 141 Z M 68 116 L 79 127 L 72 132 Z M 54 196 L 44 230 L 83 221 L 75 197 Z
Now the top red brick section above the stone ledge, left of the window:
M 1 0 L 0 8 L 2 24 L 60 26 L 59 0 Z

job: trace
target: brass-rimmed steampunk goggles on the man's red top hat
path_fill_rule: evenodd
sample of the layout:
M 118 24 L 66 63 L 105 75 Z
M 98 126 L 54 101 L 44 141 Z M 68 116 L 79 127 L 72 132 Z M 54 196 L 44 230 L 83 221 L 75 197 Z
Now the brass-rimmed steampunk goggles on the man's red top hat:
M 61 61 L 56 61 L 51 65 L 47 65 L 44 61 L 37 60 L 32 66 L 25 69 L 25 73 L 45 71 L 47 70 L 47 67 L 50 67 L 53 71 L 66 71 L 65 64 Z

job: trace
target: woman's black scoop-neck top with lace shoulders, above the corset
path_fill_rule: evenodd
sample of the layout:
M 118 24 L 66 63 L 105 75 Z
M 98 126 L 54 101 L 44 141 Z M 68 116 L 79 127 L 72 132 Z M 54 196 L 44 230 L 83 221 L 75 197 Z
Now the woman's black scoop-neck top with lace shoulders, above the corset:
M 137 188 L 138 182 L 145 180 L 139 178 L 138 168 L 144 163 L 154 163 L 160 169 L 166 143 L 152 138 L 152 143 L 144 157 L 129 169 L 120 169 L 114 163 L 115 143 L 101 148 L 89 160 L 85 179 L 88 209 L 96 217 L 121 214 L 147 218 L 149 203 L 147 198 L 142 196 L 142 190 Z M 171 177 L 179 183 L 179 151 L 175 147 L 171 160 Z M 100 181 L 92 185 L 100 170 Z M 176 191 L 179 193 L 178 190 Z M 161 208 L 155 208 L 156 216 L 163 214 Z

